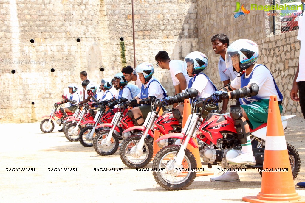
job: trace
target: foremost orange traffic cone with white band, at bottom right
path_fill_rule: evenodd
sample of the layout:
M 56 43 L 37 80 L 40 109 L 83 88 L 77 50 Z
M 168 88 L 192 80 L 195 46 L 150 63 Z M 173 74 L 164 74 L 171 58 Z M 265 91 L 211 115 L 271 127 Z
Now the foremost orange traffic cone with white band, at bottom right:
M 247 202 L 305 202 L 296 193 L 276 96 L 270 96 L 263 176 L 257 196 Z

